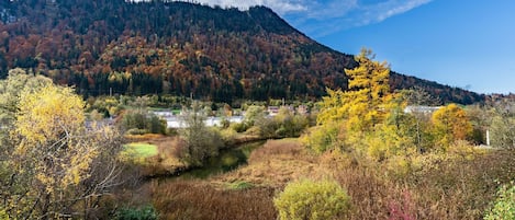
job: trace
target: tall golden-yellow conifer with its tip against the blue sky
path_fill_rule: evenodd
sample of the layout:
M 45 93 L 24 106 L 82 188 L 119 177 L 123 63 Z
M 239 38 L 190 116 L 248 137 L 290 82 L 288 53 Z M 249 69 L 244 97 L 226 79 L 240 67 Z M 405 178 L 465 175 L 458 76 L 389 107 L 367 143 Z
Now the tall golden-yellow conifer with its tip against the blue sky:
M 354 128 L 366 130 L 383 119 L 385 104 L 391 100 L 390 68 L 387 62 L 373 61 L 370 49 L 361 49 L 355 59 L 359 66 L 345 70 L 349 77 L 348 91 L 328 89 L 328 96 L 323 97 L 320 125 L 346 119 Z

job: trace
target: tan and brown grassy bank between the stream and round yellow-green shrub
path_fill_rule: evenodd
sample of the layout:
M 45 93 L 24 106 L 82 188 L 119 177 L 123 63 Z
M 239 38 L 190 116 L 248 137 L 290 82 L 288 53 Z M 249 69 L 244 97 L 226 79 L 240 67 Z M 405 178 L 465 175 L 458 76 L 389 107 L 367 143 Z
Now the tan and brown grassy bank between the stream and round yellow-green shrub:
M 248 164 L 208 178 L 146 182 L 138 198 L 161 219 L 277 219 L 273 197 L 299 176 L 322 175 L 318 159 L 298 139 L 267 140 L 248 152 Z

